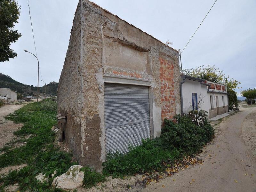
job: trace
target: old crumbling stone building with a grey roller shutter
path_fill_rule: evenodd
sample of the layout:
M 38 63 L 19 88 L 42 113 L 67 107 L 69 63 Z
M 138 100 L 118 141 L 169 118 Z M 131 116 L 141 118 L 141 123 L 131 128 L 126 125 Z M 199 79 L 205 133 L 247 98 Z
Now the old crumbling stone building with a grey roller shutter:
M 177 50 L 80 0 L 58 87 L 79 164 L 100 171 L 108 151 L 159 136 L 164 118 L 180 114 L 179 80 Z

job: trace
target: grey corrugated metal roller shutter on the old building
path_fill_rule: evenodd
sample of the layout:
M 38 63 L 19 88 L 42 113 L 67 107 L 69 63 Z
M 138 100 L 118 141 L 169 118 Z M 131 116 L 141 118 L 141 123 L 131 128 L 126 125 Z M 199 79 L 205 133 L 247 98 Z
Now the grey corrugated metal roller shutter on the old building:
M 147 86 L 105 83 L 104 99 L 106 152 L 125 153 L 150 138 Z

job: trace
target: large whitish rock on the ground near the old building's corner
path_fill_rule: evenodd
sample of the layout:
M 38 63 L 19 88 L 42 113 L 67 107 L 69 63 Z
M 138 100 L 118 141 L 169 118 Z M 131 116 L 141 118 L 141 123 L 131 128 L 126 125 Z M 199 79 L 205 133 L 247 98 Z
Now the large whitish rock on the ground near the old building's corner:
M 52 185 L 63 190 L 73 190 L 82 187 L 84 172 L 80 171 L 83 166 L 73 165 L 66 173 L 54 178 Z

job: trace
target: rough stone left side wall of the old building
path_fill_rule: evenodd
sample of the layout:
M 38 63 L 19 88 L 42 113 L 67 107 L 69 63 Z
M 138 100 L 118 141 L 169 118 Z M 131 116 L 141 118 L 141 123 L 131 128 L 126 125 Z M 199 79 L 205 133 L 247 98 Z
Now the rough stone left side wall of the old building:
M 58 85 L 58 113 L 67 116 L 64 126 L 65 140 L 74 156 L 81 163 L 81 6 L 78 4 L 68 51 Z M 58 125 L 60 128 L 60 124 Z

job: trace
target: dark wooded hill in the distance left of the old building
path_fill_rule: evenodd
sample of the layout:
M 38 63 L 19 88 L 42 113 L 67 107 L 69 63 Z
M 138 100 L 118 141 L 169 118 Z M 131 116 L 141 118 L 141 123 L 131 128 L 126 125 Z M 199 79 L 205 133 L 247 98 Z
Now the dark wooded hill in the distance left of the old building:
M 7 85 L 6 85 L 7 84 Z M 15 81 L 10 76 L 4 75 L 3 73 L 0 73 L 0 87 L 1 88 L 9 88 L 10 89 L 22 93 L 23 96 L 28 95 L 36 95 L 37 94 L 37 86 L 33 85 L 26 85 L 23 83 L 20 83 L 18 81 Z M 46 94 L 47 95 L 57 95 L 57 87 L 58 83 L 51 82 L 46 85 Z M 43 95 L 45 92 L 45 87 L 39 87 L 40 95 Z

